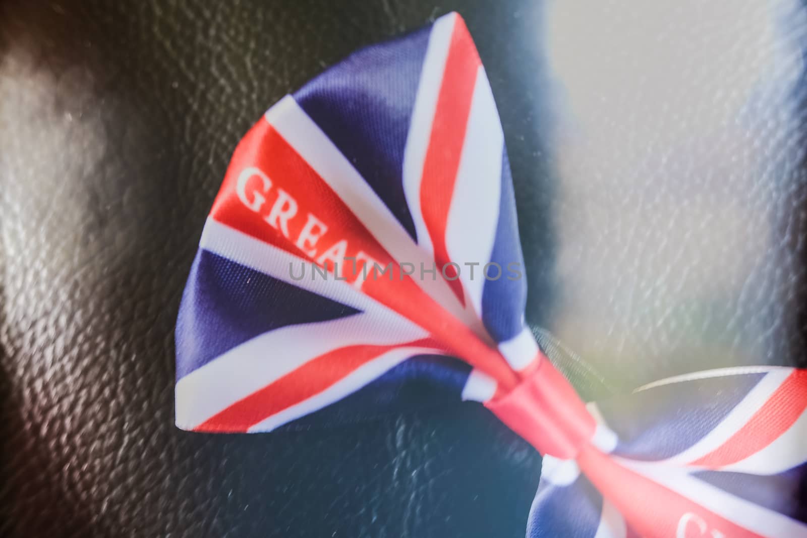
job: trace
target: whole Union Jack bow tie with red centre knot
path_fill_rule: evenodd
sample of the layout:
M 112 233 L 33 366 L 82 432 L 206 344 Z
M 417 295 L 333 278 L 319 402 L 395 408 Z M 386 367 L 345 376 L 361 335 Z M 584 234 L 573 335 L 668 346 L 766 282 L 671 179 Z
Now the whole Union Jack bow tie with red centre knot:
M 182 297 L 177 426 L 269 432 L 448 395 L 543 454 L 528 536 L 807 536 L 807 372 L 714 370 L 586 405 L 525 302 L 491 87 L 445 15 L 241 140 Z

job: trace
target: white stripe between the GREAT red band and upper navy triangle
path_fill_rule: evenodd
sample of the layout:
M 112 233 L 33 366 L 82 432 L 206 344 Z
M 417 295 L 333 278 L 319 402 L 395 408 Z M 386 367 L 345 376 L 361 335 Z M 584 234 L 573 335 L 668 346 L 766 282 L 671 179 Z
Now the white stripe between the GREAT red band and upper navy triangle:
M 415 265 L 413 280 L 450 314 L 470 325 L 473 317 L 462 309 L 454 293 L 441 277 L 420 278 L 420 266 L 431 269 L 431 252 L 425 252 L 412 240 L 378 194 L 370 188 L 350 161 L 342 155 L 327 135 L 308 117 L 291 95 L 286 95 L 266 111 L 266 121 L 277 129 L 295 151 L 322 177 L 333 191 L 399 263 Z M 439 269 L 438 269 L 439 270 Z

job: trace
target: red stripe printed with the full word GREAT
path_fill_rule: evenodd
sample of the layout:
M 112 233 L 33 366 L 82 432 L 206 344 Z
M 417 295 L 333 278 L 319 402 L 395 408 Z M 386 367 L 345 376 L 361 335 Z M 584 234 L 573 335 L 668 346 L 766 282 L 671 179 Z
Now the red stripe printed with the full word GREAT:
M 467 40 L 466 45 L 473 47 L 467 35 L 464 39 Z M 240 173 L 249 167 L 261 169 L 272 182 L 270 189 L 265 190 L 260 177 L 249 178 L 246 186 L 249 191 L 248 198 L 255 200 L 255 194 L 266 198 L 258 211 L 246 206 L 236 190 Z M 451 181 L 453 184 L 453 176 Z M 265 220 L 270 215 L 274 203 L 278 201 L 281 189 L 294 198 L 298 205 L 297 215 L 287 222 L 289 237 L 270 226 Z M 516 384 L 516 374 L 512 372 L 504 357 L 496 349 L 488 347 L 479 340 L 469 327 L 445 311 L 412 280 L 412 277 L 404 277 L 397 262 L 378 243 L 372 232 L 356 215 L 353 215 L 353 211 L 342 202 L 339 195 L 307 164 L 295 148 L 266 122 L 266 119 L 261 119 L 238 144 L 221 190 L 213 204 L 211 217 L 257 240 L 311 259 L 312 256 L 307 256 L 306 252 L 295 244 L 307 223 L 309 213 L 316 215 L 328 226 L 328 231 L 314 245 L 316 256 L 332 248 L 339 241 L 346 240 L 346 256 L 358 256 L 359 252 L 365 252 L 382 267 L 392 263 L 391 278 L 387 276 L 368 278 L 362 284 L 362 292 L 423 327 L 440 340 L 441 348 L 495 378 L 500 385 L 508 387 Z M 352 269 L 349 264 L 345 265 L 346 269 Z M 362 272 L 361 267 L 356 269 L 359 274 Z M 340 273 L 342 277 L 348 276 L 348 280 L 355 278 L 355 275 L 353 277 L 345 275 L 342 267 Z

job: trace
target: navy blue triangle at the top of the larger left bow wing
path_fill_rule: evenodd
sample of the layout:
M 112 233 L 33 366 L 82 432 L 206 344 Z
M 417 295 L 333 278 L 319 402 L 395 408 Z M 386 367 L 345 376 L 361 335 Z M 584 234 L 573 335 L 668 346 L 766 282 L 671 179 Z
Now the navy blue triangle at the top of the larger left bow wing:
M 294 94 L 413 239 L 403 195 L 403 148 L 430 31 L 363 48 Z

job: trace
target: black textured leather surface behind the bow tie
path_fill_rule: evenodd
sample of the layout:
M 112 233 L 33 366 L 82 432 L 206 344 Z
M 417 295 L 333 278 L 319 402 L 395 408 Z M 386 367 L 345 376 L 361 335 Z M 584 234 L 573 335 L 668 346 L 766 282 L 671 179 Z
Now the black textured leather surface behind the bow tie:
M 179 298 L 236 142 L 448 10 L 500 108 L 529 321 L 582 352 L 579 388 L 807 365 L 804 13 L 646 3 L 0 2 L 0 536 L 524 536 L 540 457 L 475 404 L 173 426 Z

